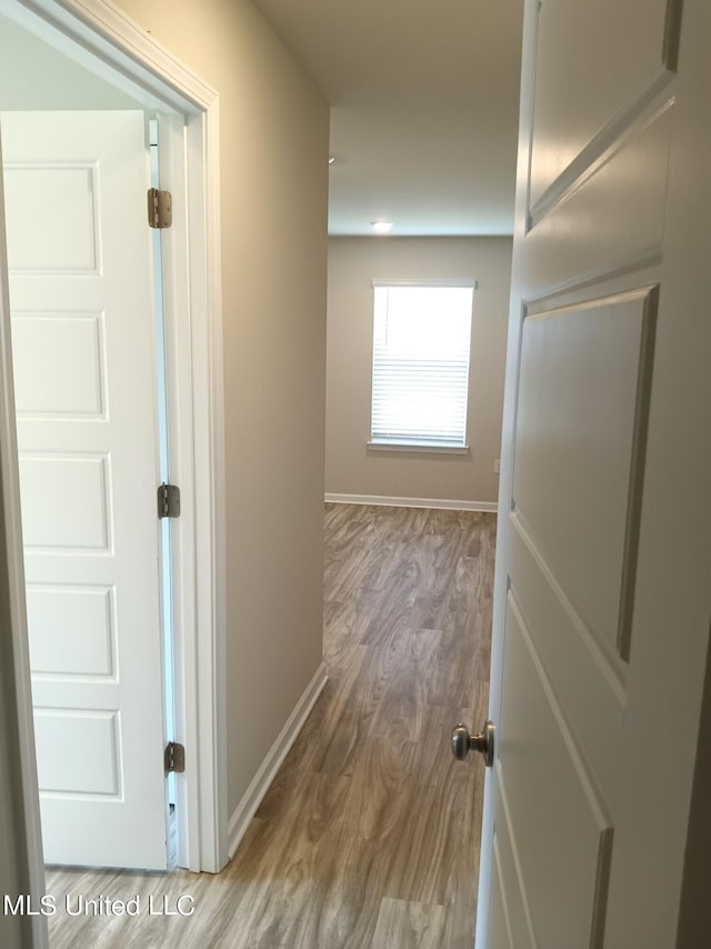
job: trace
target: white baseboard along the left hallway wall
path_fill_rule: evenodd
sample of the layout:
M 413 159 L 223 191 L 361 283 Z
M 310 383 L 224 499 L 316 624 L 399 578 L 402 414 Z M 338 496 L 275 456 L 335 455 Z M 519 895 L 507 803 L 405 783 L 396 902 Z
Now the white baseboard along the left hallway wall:
M 274 780 L 277 771 L 289 753 L 291 746 L 297 740 L 299 732 L 309 717 L 309 712 L 316 705 L 327 681 L 326 666 L 322 662 L 297 702 L 294 710 L 287 719 L 287 723 L 281 729 L 279 737 L 269 749 L 259 771 L 254 775 L 251 785 L 244 792 L 244 797 L 236 807 L 228 823 L 228 852 L 230 859 L 234 856 L 234 851 L 247 832 L 250 820 L 254 817 L 257 808 L 269 790 L 269 786 Z

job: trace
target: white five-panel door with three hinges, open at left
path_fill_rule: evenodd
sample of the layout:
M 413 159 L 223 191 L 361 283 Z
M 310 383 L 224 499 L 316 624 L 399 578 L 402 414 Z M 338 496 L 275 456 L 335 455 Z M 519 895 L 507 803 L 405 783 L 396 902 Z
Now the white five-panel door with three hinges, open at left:
M 143 113 L 3 113 L 44 859 L 166 867 Z

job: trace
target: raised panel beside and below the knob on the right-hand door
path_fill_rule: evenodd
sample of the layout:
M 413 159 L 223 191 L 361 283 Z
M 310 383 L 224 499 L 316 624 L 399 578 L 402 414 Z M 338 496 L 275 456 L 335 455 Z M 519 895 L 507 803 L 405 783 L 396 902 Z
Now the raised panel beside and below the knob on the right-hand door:
M 600 946 L 612 845 L 607 807 L 513 593 L 505 628 L 499 793 L 540 949 Z M 500 830 L 500 828 L 499 828 Z M 545 853 L 554 859 L 545 860 Z M 550 912 L 555 893 L 557 913 Z

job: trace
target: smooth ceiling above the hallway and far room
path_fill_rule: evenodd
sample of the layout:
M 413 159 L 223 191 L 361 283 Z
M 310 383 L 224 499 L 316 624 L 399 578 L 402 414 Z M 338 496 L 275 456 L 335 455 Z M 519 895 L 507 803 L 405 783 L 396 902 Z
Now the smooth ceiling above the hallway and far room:
M 511 233 L 522 0 L 254 3 L 331 103 L 331 233 Z

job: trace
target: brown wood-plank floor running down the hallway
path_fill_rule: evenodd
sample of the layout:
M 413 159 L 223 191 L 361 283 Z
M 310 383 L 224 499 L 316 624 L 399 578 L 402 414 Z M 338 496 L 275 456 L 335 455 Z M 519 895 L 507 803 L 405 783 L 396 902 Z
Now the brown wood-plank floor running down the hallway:
M 483 765 L 449 733 L 485 718 L 494 540 L 494 515 L 327 505 L 329 682 L 236 858 L 51 871 L 52 949 L 471 949 Z M 139 915 L 68 916 L 68 893 Z

